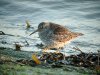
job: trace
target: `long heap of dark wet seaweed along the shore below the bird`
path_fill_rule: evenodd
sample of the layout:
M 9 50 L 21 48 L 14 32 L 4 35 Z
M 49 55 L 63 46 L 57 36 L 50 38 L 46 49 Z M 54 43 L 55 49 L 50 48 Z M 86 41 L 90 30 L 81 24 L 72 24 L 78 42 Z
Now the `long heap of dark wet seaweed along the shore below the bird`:
M 44 53 L 40 57 L 40 60 L 48 64 L 53 64 L 53 67 L 60 67 L 61 65 L 73 65 L 93 69 L 97 63 L 100 64 L 100 62 L 98 62 L 98 54 L 94 53 L 80 53 L 78 55 L 66 57 L 62 53 Z

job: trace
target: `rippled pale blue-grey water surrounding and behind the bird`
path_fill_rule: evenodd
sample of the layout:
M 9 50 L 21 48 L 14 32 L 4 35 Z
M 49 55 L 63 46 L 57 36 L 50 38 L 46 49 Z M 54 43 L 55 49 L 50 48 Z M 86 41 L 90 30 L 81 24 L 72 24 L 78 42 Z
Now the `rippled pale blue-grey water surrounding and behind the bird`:
M 34 29 L 26 30 L 25 20 L 29 20 Z M 15 35 L 0 35 L 0 46 L 13 47 L 15 42 L 25 44 L 27 40 L 33 51 L 37 50 L 34 45 L 41 43 L 37 33 L 28 35 L 42 21 L 62 24 L 84 34 L 64 50 L 70 50 L 70 46 L 78 46 L 85 52 L 100 49 L 100 0 L 0 0 L 0 31 Z

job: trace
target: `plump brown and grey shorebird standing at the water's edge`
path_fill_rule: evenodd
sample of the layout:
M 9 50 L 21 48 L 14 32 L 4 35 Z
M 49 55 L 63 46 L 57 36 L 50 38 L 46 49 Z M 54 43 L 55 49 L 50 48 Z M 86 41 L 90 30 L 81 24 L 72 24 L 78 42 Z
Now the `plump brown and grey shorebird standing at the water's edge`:
M 72 32 L 63 25 L 53 22 L 41 22 L 38 25 L 37 30 L 32 32 L 30 35 L 36 32 L 38 32 L 39 38 L 44 44 L 44 52 L 52 48 L 59 51 L 73 39 L 83 35 L 82 33 Z

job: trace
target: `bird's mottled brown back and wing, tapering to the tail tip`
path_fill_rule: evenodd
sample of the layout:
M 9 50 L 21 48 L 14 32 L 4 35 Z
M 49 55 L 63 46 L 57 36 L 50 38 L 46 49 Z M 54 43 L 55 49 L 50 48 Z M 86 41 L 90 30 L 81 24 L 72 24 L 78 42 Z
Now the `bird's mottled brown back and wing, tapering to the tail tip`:
M 51 38 L 54 38 L 54 40 L 58 42 L 70 41 L 71 39 L 82 35 L 82 33 L 71 32 L 67 28 L 54 23 L 50 23 L 50 28 L 53 30 L 53 36 Z

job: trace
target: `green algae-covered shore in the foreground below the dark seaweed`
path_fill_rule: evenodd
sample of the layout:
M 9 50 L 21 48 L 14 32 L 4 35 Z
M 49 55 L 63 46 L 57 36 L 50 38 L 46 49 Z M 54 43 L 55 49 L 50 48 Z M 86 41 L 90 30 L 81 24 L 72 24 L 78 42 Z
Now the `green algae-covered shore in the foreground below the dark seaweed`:
M 26 73 L 25 75 L 30 75 L 30 73 L 32 74 L 36 73 L 36 75 L 38 75 L 38 71 L 41 71 L 40 74 L 44 73 L 44 75 L 48 75 L 48 74 L 57 75 L 56 71 L 52 73 L 53 70 L 57 70 L 58 72 L 61 71 L 62 75 L 66 75 L 66 74 L 74 74 L 74 75 L 90 75 L 90 74 L 92 75 L 93 74 L 94 75 L 96 74 L 95 70 L 91 70 L 85 67 L 73 66 L 73 65 L 58 65 L 57 66 L 57 65 L 48 64 L 48 63 L 42 63 L 40 65 L 36 65 L 34 64 L 34 62 L 31 62 L 31 65 L 30 65 L 30 61 L 32 61 L 31 59 L 32 54 L 33 52 L 15 51 L 13 49 L 0 48 L 1 75 L 3 75 L 5 71 L 7 75 L 11 73 L 8 70 L 6 70 L 6 68 L 11 70 L 12 73 L 18 70 L 15 75 L 19 75 L 18 73 L 21 73 L 21 72 L 24 72 L 24 74 Z M 14 68 L 14 71 L 12 70 L 12 68 Z M 27 70 L 30 71 L 29 74 L 27 73 Z M 32 72 L 33 70 L 36 70 L 36 72 L 35 71 Z

